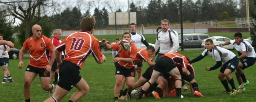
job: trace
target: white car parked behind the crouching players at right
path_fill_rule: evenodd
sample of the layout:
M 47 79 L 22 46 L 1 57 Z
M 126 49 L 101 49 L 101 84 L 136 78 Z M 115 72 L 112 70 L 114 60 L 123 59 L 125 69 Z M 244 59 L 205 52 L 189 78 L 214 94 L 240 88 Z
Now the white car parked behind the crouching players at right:
M 225 43 L 226 41 L 229 41 L 231 39 L 227 38 L 227 37 L 223 37 L 223 36 L 212 36 L 208 39 L 212 39 L 214 45 L 219 45 L 219 44 L 223 44 Z M 206 39 L 202 40 L 202 47 L 203 48 L 206 48 L 205 47 L 205 41 Z M 226 48 L 226 49 L 234 49 L 234 45 L 233 44 L 229 44 L 229 45 L 225 45 L 223 46 L 223 48 Z

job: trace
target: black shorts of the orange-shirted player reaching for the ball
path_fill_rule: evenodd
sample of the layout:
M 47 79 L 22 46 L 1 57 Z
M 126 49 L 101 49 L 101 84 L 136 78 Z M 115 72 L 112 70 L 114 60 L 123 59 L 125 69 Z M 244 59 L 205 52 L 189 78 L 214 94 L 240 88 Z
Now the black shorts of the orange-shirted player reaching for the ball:
M 132 76 L 132 77 L 135 77 L 135 69 L 134 67 L 132 68 L 124 68 L 124 67 L 121 67 L 117 62 L 115 63 L 115 66 L 116 66 L 116 74 L 115 75 L 124 75 L 124 77 L 129 77 L 129 76 Z

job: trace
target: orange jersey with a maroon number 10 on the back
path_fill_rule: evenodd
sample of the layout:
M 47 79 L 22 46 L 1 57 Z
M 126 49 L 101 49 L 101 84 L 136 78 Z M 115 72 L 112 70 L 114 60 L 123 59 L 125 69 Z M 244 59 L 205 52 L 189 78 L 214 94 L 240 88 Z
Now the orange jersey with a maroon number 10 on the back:
M 90 53 L 94 59 L 102 59 L 101 50 L 99 49 L 99 40 L 90 32 L 75 32 L 65 37 L 65 39 L 56 47 L 58 51 L 66 52 L 63 60 L 72 62 L 82 69 L 83 64 Z

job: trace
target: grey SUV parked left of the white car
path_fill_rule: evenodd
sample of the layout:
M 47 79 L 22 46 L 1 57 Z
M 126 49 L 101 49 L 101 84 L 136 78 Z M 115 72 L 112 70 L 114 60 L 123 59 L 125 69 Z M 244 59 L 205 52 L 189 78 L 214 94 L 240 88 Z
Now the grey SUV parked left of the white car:
M 208 34 L 183 34 L 184 48 L 201 47 L 202 40 L 209 38 Z M 181 35 L 178 36 L 179 44 L 181 46 Z

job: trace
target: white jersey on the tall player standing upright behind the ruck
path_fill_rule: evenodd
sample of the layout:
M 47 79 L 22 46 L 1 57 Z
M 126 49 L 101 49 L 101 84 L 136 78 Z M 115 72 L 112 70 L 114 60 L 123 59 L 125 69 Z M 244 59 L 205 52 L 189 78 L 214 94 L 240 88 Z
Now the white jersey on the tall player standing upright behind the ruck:
M 170 40 L 170 36 L 173 43 Z M 159 53 L 161 54 L 177 52 L 178 48 L 180 47 L 178 42 L 178 32 L 176 31 L 174 31 L 174 33 L 171 31 L 169 35 L 169 31 L 163 32 L 161 30 L 158 32 L 157 38 L 158 39 L 155 41 L 155 51 L 157 51 L 160 47 Z

